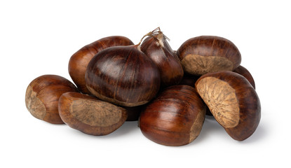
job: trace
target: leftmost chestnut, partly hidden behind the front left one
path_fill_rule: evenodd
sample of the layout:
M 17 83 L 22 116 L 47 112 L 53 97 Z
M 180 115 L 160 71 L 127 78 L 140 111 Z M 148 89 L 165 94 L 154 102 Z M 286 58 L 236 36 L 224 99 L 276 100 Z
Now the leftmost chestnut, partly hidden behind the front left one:
M 73 83 L 62 76 L 39 76 L 27 87 L 25 105 L 35 118 L 52 124 L 63 124 L 57 111 L 57 103 L 65 92 L 79 91 Z

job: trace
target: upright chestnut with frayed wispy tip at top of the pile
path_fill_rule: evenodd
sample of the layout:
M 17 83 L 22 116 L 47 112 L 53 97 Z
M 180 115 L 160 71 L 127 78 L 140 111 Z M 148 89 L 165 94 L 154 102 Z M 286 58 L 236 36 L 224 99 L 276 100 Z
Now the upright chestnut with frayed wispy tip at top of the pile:
M 158 29 L 159 30 L 159 29 Z M 161 73 L 161 86 L 177 85 L 183 77 L 183 68 L 177 54 L 172 50 L 163 32 L 144 39 L 141 50 L 158 66 Z

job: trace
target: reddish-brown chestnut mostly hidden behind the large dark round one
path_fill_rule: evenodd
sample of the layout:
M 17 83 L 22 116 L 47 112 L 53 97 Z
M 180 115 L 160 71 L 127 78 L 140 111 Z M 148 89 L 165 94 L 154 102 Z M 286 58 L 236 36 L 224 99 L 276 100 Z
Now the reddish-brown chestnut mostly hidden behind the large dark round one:
M 90 94 L 85 84 L 85 73 L 92 57 L 105 48 L 117 45 L 133 45 L 133 42 L 124 36 L 108 36 L 83 46 L 72 55 L 69 59 L 69 75 L 81 92 Z

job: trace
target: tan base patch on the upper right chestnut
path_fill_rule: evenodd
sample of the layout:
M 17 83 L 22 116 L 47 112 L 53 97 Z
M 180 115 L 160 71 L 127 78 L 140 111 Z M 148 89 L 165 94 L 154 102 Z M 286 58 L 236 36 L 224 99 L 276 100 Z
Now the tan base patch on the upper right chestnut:
M 203 75 L 209 72 L 228 70 L 232 71 L 234 64 L 226 57 L 187 55 L 181 64 L 184 71 L 193 75 Z

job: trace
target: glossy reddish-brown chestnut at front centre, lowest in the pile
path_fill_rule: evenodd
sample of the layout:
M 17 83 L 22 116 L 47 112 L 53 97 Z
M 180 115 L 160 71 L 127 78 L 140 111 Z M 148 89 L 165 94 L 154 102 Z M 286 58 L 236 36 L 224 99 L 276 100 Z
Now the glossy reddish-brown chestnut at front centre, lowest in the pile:
M 152 101 L 140 115 L 140 130 L 165 146 L 191 143 L 201 132 L 205 104 L 189 85 L 173 85 Z

